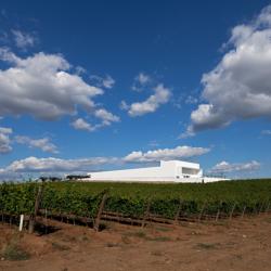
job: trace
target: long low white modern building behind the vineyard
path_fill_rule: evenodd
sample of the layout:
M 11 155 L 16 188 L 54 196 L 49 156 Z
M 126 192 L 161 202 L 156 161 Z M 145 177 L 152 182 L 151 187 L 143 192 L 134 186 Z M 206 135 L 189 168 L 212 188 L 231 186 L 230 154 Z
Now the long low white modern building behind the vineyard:
M 162 160 L 159 167 L 89 172 L 85 181 L 127 182 L 211 182 L 219 178 L 203 177 L 199 164 L 183 160 Z

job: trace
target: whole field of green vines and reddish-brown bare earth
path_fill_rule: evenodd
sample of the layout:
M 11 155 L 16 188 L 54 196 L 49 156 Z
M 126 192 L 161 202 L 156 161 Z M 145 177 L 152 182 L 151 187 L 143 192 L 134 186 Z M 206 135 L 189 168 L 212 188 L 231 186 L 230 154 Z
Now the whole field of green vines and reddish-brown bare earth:
M 36 231 L 20 233 L 37 202 Z M 270 203 L 267 179 L 2 183 L 0 271 L 270 270 Z

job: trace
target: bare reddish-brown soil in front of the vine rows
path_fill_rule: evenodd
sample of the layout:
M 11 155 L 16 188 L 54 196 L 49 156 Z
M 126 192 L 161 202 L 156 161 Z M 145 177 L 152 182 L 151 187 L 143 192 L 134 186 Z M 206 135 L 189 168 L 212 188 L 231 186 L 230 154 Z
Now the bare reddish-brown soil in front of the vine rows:
M 0 224 L 0 251 L 14 236 L 27 260 L 0 260 L 0 271 L 271 270 L 271 215 L 217 223 L 107 223 L 102 232 L 50 221 L 59 230 L 38 235 Z

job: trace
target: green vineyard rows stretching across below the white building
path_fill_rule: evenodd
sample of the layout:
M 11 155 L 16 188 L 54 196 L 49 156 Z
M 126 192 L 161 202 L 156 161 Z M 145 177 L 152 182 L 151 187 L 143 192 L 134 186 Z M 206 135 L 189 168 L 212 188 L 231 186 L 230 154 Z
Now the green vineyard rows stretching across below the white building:
M 102 219 L 181 220 L 229 218 L 269 211 L 271 180 L 237 180 L 217 183 L 2 183 L 0 215 L 31 216 L 39 188 L 40 214 L 86 218 L 94 221 L 102 198 Z M 126 220 L 125 220 L 126 219 Z M 116 220 L 116 219 L 115 219 Z

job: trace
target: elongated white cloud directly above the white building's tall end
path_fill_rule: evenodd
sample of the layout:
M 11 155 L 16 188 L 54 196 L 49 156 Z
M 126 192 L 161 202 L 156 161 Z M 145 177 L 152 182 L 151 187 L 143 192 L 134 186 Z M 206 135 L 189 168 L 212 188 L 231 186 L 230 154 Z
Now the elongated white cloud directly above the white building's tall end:
M 179 158 L 188 158 L 199 156 L 210 151 L 207 147 L 193 147 L 193 146 L 177 146 L 175 149 L 158 149 L 143 153 L 141 151 L 132 152 L 124 157 L 127 163 L 149 163 L 159 160 L 170 160 Z

